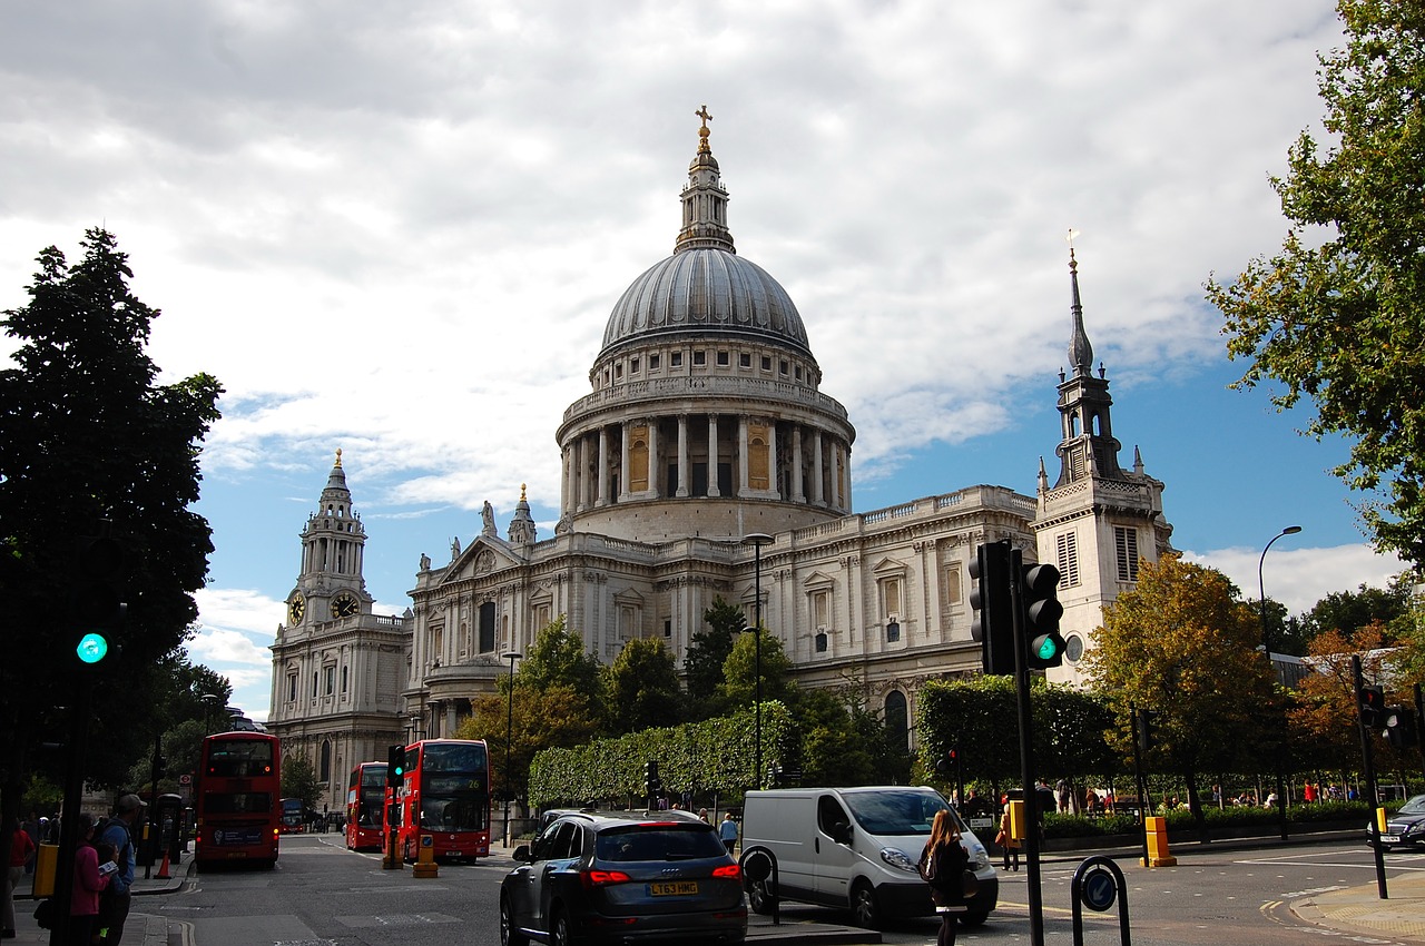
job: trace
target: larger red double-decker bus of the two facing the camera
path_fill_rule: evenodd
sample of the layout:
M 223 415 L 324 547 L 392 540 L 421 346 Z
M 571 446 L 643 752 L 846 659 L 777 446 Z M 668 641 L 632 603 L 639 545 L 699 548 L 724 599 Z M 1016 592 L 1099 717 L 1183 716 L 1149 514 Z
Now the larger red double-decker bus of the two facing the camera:
M 490 752 L 484 739 L 420 739 L 406 747 L 396 798 L 398 851 L 415 861 L 430 836 L 436 858 L 490 853 Z

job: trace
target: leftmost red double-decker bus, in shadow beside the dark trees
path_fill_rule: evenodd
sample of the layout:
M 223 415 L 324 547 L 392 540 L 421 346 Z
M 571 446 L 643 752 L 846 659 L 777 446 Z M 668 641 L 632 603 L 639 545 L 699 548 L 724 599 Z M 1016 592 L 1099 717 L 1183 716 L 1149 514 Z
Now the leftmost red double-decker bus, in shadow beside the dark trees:
M 194 801 L 194 863 L 276 863 L 281 792 L 275 735 L 217 732 L 204 738 Z

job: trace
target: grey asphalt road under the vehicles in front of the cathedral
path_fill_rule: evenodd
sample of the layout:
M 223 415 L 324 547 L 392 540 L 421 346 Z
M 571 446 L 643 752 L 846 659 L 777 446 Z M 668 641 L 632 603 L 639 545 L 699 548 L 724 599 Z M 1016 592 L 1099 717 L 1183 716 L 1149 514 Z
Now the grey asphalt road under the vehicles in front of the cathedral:
M 1304 946 L 1324 937 L 1389 946 L 1388 937 L 1354 939 L 1291 916 L 1287 905 L 1312 892 L 1374 883 L 1371 852 L 1359 843 L 1304 845 L 1290 851 L 1221 851 L 1193 846 L 1176 868 L 1120 862 L 1127 882 L 1136 946 Z M 1425 870 L 1425 853 L 1391 852 L 1392 873 Z M 1070 879 L 1077 862 L 1043 865 L 1046 943 L 1073 942 Z M 435 879 L 409 868 L 382 870 L 376 855 L 348 852 L 341 835 L 292 836 L 272 870 L 191 875 L 180 893 L 144 898 L 144 912 L 170 923 L 170 943 L 184 946 L 497 946 L 497 892 L 503 858 L 440 865 Z M 1120 943 L 1117 913 L 1084 910 L 1084 943 Z M 787 905 L 784 925 L 846 923 L 845 913 Z M 802 927 L 807 929 L 807 927 Z M 787 930 L 795 937 L 795 932 Z M 882 932 L 885 943 L 935 942 L 936 920 L 905 920 Z M 962 929 L 959 943 L 1029 943 L 1026 873 L 1005 873 L 1000 909 L 983 926 Z

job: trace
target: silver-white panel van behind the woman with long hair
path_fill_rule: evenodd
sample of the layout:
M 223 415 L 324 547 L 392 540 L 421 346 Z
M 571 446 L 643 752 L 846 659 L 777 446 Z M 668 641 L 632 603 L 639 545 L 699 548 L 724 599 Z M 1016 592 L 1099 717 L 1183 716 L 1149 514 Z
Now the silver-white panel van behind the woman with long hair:
M 775 858 L 781 899 L 849 909 L 858 926 L 935 912 L 916 862 L 935 812 L 949 802 L 933 788 L 782 788 L 748 792 L 742 808 L 742 856 L 764 849 Z M 953 809 L 950 809 L 953 812 Z M 959 821 L 959 815 L 956 815 Z M 999 899 L 999 875 L 979 838 L 960 822 L 969 868 L 979 890 L 965 925 L 983 923 Z M 768 885 L 754 882 L 752 909 L 771 912 Z

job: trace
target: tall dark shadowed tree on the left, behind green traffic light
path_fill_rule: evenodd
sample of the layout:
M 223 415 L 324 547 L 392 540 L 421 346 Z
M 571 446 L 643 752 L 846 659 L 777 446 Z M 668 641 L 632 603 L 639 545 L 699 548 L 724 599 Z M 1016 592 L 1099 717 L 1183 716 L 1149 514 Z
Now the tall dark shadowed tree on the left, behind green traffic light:
M 0 598 L 11 627 L 0 662 L 3 814 L 16 812 L 26 748 L 54 738 L 67 714 L 56 694 L 84 687 L 87 774 L 114 785 L 147 742 L 165 655 L 197 615 L 212 551 L 198 500 L 198 452 L 218 419 L 218 382 L 195 375 L 155 385 L 145 346 L 158 311 L 128 288 L 133 272 L 113 235 L 90 229 L 70 265 L 54 246 L 38 256 L 28 302 L 4 313 L 20 341 L 0 370 Z M 80 678 L 68 618 L 76 539 L 107 523 L 124 547 L 127 621 L 113 628 L 108 671 Z

